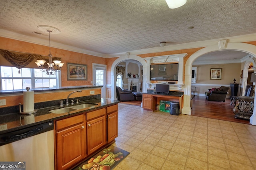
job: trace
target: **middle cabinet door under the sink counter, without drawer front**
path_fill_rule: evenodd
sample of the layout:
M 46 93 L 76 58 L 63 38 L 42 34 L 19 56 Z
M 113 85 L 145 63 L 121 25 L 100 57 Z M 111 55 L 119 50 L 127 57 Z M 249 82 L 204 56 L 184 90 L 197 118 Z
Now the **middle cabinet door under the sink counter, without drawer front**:
M 106 144 L 106 116 L 98 117 L 87 122 L 88 154 Z

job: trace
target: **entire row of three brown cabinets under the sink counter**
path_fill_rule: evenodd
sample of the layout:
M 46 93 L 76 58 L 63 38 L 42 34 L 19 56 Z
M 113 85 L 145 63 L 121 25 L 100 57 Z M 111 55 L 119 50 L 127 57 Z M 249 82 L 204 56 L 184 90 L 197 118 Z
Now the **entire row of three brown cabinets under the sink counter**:
M 67 170 L 118 136 L 118 104 L 56 120 L 54 125 L 55 169 Z

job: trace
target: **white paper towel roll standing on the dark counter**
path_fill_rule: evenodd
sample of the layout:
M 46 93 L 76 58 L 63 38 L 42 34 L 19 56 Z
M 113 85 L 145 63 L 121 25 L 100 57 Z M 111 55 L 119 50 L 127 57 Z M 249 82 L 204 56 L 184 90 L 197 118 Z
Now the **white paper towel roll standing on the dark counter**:
M 34 111 L 34 91 L 23 92 L 23 111 Z

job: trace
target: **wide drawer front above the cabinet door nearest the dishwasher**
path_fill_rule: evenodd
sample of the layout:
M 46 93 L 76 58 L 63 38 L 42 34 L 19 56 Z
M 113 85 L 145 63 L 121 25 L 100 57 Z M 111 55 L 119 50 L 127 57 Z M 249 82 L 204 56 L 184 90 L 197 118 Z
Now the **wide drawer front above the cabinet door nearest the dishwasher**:
M 56 121 L 56 130 L 63 129 L 72 125 L 76 125 L 84 121 L 84 114 L 69 117 L 66 119 Z

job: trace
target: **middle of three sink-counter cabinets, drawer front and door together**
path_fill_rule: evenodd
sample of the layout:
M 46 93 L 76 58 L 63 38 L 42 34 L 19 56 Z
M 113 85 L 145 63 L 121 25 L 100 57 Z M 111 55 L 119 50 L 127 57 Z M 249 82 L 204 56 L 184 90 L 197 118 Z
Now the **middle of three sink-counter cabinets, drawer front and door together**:
M 100 149 L 106 144 L 106 109 L 86 113 L 87 119 L 87 152 Z

